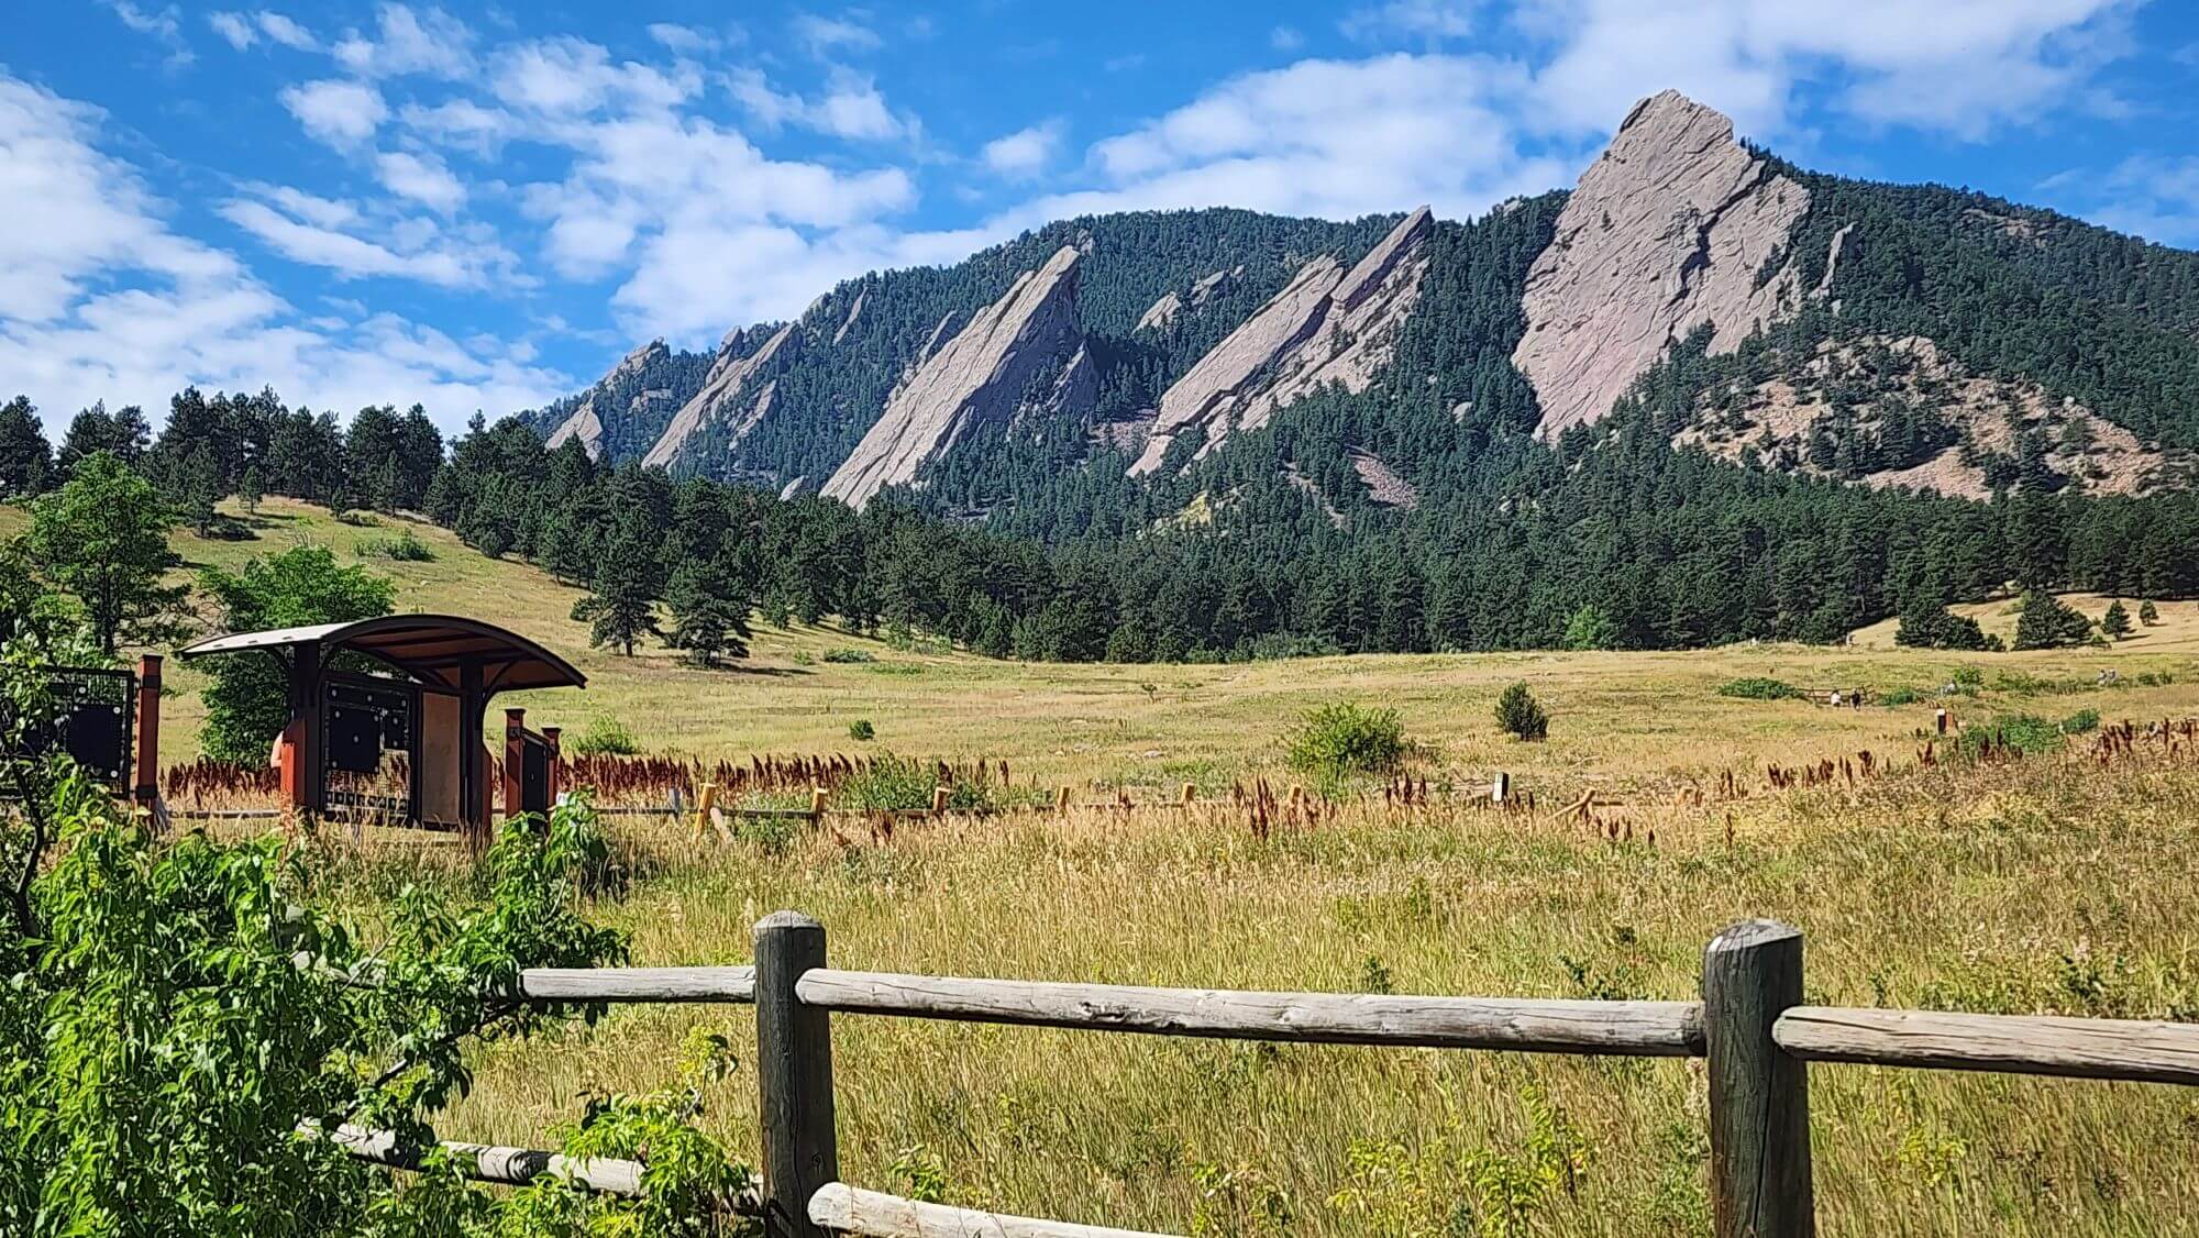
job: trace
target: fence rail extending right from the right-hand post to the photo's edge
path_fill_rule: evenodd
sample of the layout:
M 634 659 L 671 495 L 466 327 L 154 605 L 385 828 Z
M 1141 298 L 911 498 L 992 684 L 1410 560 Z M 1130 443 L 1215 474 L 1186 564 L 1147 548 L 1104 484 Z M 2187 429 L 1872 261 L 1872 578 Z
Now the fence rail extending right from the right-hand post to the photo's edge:
M 2190 1023 L 1799 1005 L 1772 1040 L 1805 1062 L 2199 1084 Z

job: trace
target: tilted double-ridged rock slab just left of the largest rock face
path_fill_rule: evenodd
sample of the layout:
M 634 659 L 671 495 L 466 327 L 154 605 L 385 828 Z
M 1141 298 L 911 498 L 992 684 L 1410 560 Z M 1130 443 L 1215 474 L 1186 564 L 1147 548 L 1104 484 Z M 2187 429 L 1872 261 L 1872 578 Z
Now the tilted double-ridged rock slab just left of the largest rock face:
M 1421 297 L 1427 275 L 1427 207 L 1405 215 L 1350 270 L 1322 255 L 1198 358 L 1163 396 L 1132 475 L 1161 466 L 1168 446 L 1198 433 L 1205 455 L 1231 431 L 1258 429 L 1275 409 L 1326 383 L 1366 391 L 1390 363 L 1396 325 Z

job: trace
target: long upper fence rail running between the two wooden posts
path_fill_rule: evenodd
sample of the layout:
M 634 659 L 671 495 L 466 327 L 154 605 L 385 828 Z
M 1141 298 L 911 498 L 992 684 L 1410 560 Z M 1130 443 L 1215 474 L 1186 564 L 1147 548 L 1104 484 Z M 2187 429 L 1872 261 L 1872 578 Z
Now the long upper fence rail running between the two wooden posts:
M 822 1009 L 1154 1036 L 1416 1044 L 1700 1058 L 1702 1003 L 1535 1001 L 1390 994 L 1157 990 L 1056 981 L 976 981 L 893 972 L 803 972 L 794 994 Z

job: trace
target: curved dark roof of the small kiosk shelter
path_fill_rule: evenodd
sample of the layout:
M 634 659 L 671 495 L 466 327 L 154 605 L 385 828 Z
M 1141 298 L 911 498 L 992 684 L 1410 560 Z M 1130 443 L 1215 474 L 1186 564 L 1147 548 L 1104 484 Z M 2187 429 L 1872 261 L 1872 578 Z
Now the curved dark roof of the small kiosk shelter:
M 299 644 L 319 644 L 330 651 L 356 649 L 405 671 L 422 684 L 453 690 L 460 686 L 460 668 L 468 662 L 482 666 L 482 690 L 486 693 L 587 686 L 587 675 L 541 644 L 517 631 L 460 616 L 383 616 L 314 627 L 240 631 L 209 635 L 183 646 L 176 655 L 207 657 L 253 649 L 292 649 Z

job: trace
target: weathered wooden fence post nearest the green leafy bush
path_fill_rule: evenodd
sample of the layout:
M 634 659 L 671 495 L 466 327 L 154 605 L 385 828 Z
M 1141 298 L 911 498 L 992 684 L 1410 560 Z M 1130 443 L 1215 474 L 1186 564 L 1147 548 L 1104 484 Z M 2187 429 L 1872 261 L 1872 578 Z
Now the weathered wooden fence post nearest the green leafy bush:
M 840 1179 L 831 1108 L 831 1016 L 794 994 L 825 965 L 825 926 L 798 910 L 756 921 L 756 1099 L 763 1126 L 763 1231 L 825 1238 L 809 1196 Z

